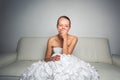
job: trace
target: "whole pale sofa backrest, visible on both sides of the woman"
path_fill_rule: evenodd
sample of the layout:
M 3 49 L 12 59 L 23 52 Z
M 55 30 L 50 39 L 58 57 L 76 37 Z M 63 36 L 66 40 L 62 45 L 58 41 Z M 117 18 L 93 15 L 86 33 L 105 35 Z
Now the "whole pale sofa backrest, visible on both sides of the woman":
M 18 47 L 18 60 L 44 59 L 47 37 L 24 37 Z M 112 63 L 108 39 L 79 37 L 73 55 L 87 62 Z

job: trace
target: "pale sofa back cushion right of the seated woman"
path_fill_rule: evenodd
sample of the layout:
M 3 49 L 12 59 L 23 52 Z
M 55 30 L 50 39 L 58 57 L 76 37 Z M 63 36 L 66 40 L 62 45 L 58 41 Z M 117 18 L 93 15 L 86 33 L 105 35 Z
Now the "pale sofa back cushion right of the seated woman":
M 81 37 L 73 54 L 87 62 L 112 63 L 108 40 L 105 38 Z

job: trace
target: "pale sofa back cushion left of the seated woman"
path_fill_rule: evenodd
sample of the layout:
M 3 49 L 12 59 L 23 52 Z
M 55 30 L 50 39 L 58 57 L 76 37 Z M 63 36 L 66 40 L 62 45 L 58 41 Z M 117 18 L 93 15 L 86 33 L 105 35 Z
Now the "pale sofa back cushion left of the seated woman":
M 18 60 L 43 59 L 47 46 L 47 38 L 26 37 L 20 40 L 18 47 Z

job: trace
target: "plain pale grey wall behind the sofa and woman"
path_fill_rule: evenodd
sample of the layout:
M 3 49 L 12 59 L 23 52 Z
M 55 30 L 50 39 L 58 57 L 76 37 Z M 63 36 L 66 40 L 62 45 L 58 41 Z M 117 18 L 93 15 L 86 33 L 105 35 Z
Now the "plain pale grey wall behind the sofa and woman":
M 112 54 L 120 54 L 119 0 L 1 0 L 0 52 L 13 52 L 24 36 L 52 36 L 56 20 L 71 18 L 71 34 L 109 39 Z

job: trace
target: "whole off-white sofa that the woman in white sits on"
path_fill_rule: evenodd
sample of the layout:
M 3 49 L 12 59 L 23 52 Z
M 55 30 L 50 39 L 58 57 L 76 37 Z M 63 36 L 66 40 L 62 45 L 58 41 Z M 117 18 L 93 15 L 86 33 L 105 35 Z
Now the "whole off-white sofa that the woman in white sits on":
M 79 37 L 73 55 L 89 62 L 100 74 L 100 80 L 120 80 L 120 57 L 111 55 L 106 38 Z M 33 62 L 43 60 L 47 37 L 24 37 L 17 51 L 0 55 L 0 80 L 18 80 Z

